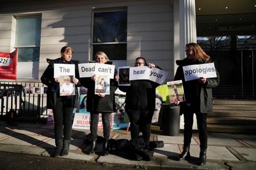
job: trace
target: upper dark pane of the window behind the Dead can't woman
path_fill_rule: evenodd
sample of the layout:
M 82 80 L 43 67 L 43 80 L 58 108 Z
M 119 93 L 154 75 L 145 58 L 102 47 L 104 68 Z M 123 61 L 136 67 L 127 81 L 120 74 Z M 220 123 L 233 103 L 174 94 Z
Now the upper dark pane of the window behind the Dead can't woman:
M 126 41 L 127 11 L 94 13 L 93 43 Z

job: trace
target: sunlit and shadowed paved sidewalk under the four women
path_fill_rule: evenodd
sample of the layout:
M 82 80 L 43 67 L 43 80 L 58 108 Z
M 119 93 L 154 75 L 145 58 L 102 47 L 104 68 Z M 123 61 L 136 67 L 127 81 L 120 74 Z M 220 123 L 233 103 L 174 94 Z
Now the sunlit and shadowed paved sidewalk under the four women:
M 54 125 L 19 123 L 10 126 L 0 121 L 0 151 L 33 154 L 49 157 L 54 152 Z M 183 136 L 163 136 L 157 130 L 152 132 L 151 140 L 164 141 L 164 148 L 156 148 L 154 158 L 150 161 L 134 161 L 122 155 L 109 154 L 102 157 L 97 154 L 83 153 L 83 139 L 90 131 L 74 129 L 70 154 L 67 159 L 84 160 L 85 162 L 99 162 L 108 164 L 143 165 L 148 167 L 170 167 L 170 169 L 255 169 L 256 167 L 256 135 L 209 133 L 207 163 L 197 166 L 200 152 L 198 134 L 193 134 L 191 141 L 191 159 L 178 162 L 175 160 L 180 154 Z M 102 132 L 99 132 L 102 136 Z M 125 130 L 111 132 L 113 139 L 130 139 Z M 52 158 L 54 159 L 54 158 Z

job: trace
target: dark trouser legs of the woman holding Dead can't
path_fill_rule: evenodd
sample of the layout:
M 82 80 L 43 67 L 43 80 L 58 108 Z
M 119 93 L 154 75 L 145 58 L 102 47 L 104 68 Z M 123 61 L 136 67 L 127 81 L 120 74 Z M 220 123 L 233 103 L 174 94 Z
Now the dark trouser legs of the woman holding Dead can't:
M 109 139 L 109 136 L 110 136 L 109 115 L 110 115 L 110 113 L 102 113 L 101 115 L 102 115 L 102 125 L 103 125 L 103 137 L 105 139 Z M 99 112 L 92 111 L 92 112 L 90 112 L 90 116 L 91 116 L 90 131 L 91 131 L 93 139 L 96 139 L 97 132 L 98 132 L 98 124 L 99 124 Z

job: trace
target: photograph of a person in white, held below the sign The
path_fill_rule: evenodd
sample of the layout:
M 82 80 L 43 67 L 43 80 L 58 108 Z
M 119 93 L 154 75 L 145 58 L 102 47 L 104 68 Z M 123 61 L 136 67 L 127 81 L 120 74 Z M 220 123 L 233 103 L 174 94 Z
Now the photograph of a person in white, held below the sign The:
M 75 95 L 75 83 L 72 78 L 73 76 L 60 76 L 60 96 Z

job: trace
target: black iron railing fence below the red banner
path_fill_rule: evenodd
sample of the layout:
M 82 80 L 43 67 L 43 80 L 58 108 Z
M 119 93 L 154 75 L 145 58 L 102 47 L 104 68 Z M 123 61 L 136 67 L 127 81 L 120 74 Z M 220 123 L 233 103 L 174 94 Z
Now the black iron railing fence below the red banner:
M 40 82 L 0 81 L 0 117 L 40 121 L 47 117 L 45 87 Z

